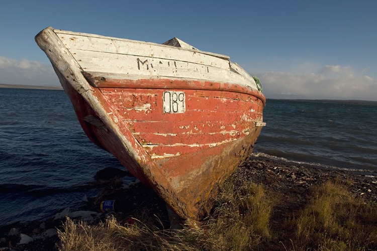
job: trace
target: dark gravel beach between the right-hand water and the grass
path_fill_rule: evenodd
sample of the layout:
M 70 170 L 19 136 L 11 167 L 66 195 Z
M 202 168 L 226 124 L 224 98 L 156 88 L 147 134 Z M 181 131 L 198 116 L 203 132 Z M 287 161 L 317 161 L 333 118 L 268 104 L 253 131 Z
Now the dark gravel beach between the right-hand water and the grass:
M 324 169 L 261 158 L 250 158 L 235 173 L 236 179 L 248 180 L 264 187 L 274 198 L 270 219 L 271 228 L 279 228 L 289 215 L 303 209 L 308 203 L 311 189 L 327 181 L 349 180 L 350 192 L 366 202 L 377 203 L 377 174 L 356 171 Z

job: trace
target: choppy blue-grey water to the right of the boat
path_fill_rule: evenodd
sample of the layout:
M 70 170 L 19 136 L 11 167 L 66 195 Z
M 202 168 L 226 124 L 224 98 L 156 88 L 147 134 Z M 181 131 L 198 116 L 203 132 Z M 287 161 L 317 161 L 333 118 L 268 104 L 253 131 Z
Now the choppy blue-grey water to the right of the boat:
M 377 102 L 267 100 L 254 155 L 377 172 Z

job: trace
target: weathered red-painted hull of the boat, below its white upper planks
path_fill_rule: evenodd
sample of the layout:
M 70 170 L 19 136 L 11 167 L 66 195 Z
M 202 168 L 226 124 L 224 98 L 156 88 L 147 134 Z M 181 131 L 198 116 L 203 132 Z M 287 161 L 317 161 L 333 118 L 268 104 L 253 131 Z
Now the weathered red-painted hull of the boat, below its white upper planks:
M 151 82 L 153 89 L 129 88 L 121 83 L 104 82 L 103 87 L 93 87 L 93 92 L 117 118 L 119 126 L 129 132 L 133 144 L 142 146 L 151 168 L 143 169 L 126 154 L 122 142 L 106 126 L 85 121 L 87 115 L 97 114 L 67 85 L 66 91 L 86 135 L 155 189 L 180 217 L 203 219 L 211 209 L 211 197 L 218 185 L 252 152 L 261 130 L 255 122 L 262 121 L 263 97 L 255 97 L 252 90 L 219 90 L 211 87 L 219 83 L 200 81 L 191 82 L 190 89 L 167 89 L 158 81 Z M 197 89 L 192 88 L 195 84 Z M 162 95 L 166 90 L 185 92 L 184 113 L 163 112 Z

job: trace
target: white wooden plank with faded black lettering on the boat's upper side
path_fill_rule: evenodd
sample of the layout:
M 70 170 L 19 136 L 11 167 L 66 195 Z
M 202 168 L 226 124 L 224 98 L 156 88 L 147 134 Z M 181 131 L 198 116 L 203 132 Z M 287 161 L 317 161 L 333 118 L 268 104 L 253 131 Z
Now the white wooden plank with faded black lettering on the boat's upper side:
M 203 65 L 182 60 L 168 60 L 153 57 L 114 54 L 106 52 L 82 51 L 71 49 L 70 52 L 80 67 L 87 72 L 107 72 L 125 74 L 127 79 L 189 78 L 236 83 L 256 89 L 256 85 L 243 76 L 210 65 Z

